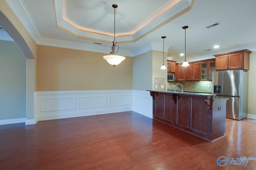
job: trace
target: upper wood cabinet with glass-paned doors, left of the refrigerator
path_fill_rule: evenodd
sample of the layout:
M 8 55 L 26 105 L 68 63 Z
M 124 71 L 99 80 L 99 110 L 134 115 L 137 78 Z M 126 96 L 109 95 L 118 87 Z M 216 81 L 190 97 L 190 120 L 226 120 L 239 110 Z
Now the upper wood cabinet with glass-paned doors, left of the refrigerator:
M 200 80 L 212 80 L 212 72 L 215 71 L 215 59 L 200 63 Z

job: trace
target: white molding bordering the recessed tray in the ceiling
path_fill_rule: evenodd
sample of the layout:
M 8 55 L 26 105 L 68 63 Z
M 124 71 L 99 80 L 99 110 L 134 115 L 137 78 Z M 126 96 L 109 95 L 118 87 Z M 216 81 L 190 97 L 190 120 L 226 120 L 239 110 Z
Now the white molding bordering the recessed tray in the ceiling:
M 162 15 L 158 16 L 156 19 L 152 20 L 146 26 L 142 27 L 139 31 L 132 35 L 120 35 L 118 36 L 118 43 L 134 43 L 144 37 L 145 35 L 151 33 L 155 29 L 162 27 L 166 23 L 170 22 L 177 16 L 187 12 L 188 9 L 191 9 L 192 2 L 194 0 L 181 0 L 176 5 L 172 6 L 169 10 L 164 12 Z M 67 21 L 63 20 L 62 16 L 62 0 L 54 0 L 54 10 L 56 16 L 57 27 L 62 29 L 63 31 L 74 35 L 75 37 L 88 39 L 88 40 L 95 40 L 103 43 L 111 43 L 112 36 L 106 35 L 103 33 L 91 33 L 90 31 L 82 31 Z

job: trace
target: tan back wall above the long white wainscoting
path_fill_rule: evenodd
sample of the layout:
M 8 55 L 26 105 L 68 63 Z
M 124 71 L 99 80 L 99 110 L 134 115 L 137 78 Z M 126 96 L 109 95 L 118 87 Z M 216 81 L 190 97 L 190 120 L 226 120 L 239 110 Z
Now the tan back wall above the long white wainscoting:
M 38 45 L 37 90 L 131 90 L 132 57 L 114 67 L 104 55 Z

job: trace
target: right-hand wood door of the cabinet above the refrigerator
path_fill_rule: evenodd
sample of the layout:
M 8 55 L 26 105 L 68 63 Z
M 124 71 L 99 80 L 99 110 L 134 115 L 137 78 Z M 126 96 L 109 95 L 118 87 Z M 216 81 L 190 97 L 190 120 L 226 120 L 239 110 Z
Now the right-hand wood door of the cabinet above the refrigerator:
M 237 70 L 244 68 L 244 53 L 228 55 L 229 70 Z

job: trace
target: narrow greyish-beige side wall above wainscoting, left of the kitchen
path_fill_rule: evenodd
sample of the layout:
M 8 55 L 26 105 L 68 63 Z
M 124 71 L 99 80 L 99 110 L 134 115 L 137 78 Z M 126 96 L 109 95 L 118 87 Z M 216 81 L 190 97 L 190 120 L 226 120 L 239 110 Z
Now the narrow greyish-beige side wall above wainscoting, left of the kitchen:
M 152 51 L 133 57 L 133 90 L 152 90 Z

